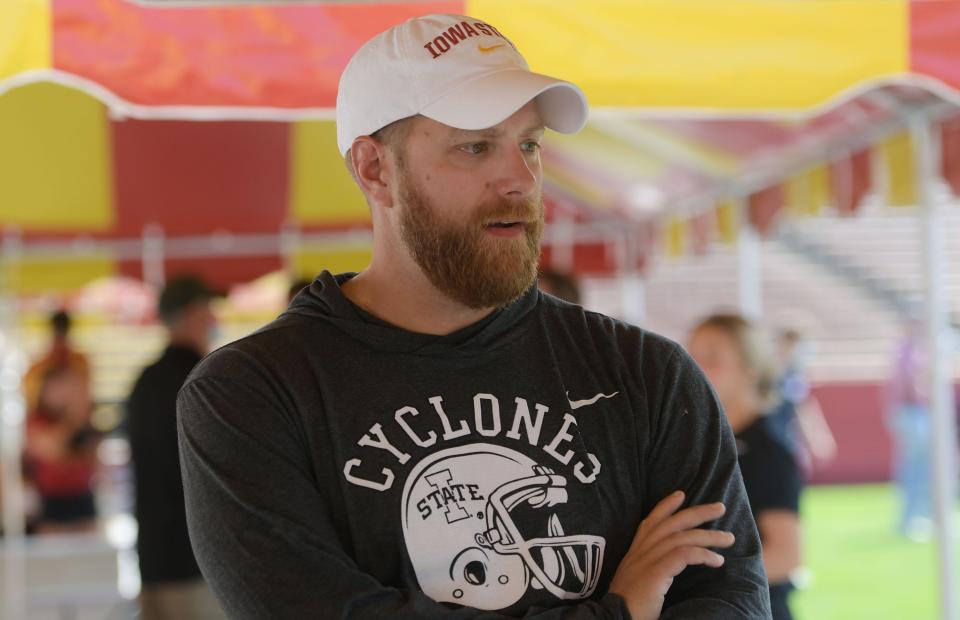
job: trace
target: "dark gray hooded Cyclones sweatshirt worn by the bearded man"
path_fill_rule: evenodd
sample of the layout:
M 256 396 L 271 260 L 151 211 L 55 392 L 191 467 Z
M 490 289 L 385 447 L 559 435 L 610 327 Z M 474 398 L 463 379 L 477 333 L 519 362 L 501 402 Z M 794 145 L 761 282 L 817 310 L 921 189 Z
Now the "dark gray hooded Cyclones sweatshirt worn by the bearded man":
M 234 618 L 629 618 L 607 592 L 677 489 L 722 501 L 722 568 L 664 618 L 769 617 L 733 435 L 675 343 L 530 289 L 446 336 L 324 272 L 180 392 L 190 537 Z

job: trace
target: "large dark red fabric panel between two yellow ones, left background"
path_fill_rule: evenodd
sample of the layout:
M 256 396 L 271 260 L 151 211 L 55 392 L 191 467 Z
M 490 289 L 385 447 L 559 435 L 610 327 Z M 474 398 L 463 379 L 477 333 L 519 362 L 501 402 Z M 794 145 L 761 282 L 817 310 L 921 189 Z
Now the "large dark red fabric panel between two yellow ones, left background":
M 121 236 L 276 232 L 286 216 L 286 123 L 118 121 L 113 165 Z

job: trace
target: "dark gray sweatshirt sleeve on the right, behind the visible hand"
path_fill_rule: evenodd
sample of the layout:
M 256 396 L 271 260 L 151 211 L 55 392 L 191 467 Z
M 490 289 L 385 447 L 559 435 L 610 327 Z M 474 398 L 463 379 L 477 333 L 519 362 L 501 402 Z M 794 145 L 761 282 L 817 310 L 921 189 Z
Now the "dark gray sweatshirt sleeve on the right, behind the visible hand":
M 646 458 L 648 505 L 680 489 L 686 506 L 723 502 L 726 513 L 708 524 L 733 532 L 736 543 L 719 551 L 720 568 L 691 566 L 674 580 L 662 618 L 769 618 L 770 601 L 756 523 L 740 476 L 737 449 L 716 394 L 679 346 L 656 384 L 648 382 L 654 418 Z

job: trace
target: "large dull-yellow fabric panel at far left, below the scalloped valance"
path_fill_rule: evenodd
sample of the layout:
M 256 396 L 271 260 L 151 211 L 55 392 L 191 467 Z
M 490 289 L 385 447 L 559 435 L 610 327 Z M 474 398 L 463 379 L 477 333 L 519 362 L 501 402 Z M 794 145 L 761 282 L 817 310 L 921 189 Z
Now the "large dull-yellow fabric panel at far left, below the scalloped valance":
M 0 226 L 102 232 L 114 223 L 106 108 L 29 84 L 0 96 Z

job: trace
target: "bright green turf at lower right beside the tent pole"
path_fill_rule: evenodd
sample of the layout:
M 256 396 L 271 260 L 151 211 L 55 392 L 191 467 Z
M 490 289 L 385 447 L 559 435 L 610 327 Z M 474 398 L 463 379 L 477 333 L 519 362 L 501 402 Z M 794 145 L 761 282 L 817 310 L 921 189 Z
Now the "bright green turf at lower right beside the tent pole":
M 939 617 L 936 546 L 897 536 L 896 509 L 889 485 L 807 488 L 810 583 L 792 598 L 798 620 Z

